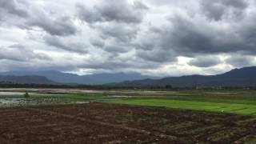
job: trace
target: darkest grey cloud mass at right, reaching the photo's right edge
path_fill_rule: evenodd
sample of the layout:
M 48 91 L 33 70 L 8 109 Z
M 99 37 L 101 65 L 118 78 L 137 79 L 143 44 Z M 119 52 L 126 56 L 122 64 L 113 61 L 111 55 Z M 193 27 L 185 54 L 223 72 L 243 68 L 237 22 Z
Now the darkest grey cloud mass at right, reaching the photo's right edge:
M 239 22 L 210 22 L 204 18 L 175 16 L 170 18 L 172 28 L 162 38 L 163 46 L 171 46 L 178 54 L 212 54 L 250 51 L 255 53 L 256 46 L 254 16 L 243 18 Z M 225 20 L 223 20 L 225 21 Z M 226 24 L 222 27 L 220 24 Z M 165 31 L 166 33 L 166 31 Z

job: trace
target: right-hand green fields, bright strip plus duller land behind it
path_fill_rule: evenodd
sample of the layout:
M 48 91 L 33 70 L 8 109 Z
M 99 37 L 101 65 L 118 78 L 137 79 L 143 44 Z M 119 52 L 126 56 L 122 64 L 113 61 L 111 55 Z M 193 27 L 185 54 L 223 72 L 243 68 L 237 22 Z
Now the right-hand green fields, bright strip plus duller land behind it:
M 124 95 L 128 93 L 124 92 Z M 129 94 L 128 94 L 129 95 Z M 136 95 L 136 94 L 130 94 Z M 256 115 L 255 91 L 179 91 L 138 93 L 113 103 L 135 106 L 161 106 L 186 110 L 203 110 L 218 113 Z

